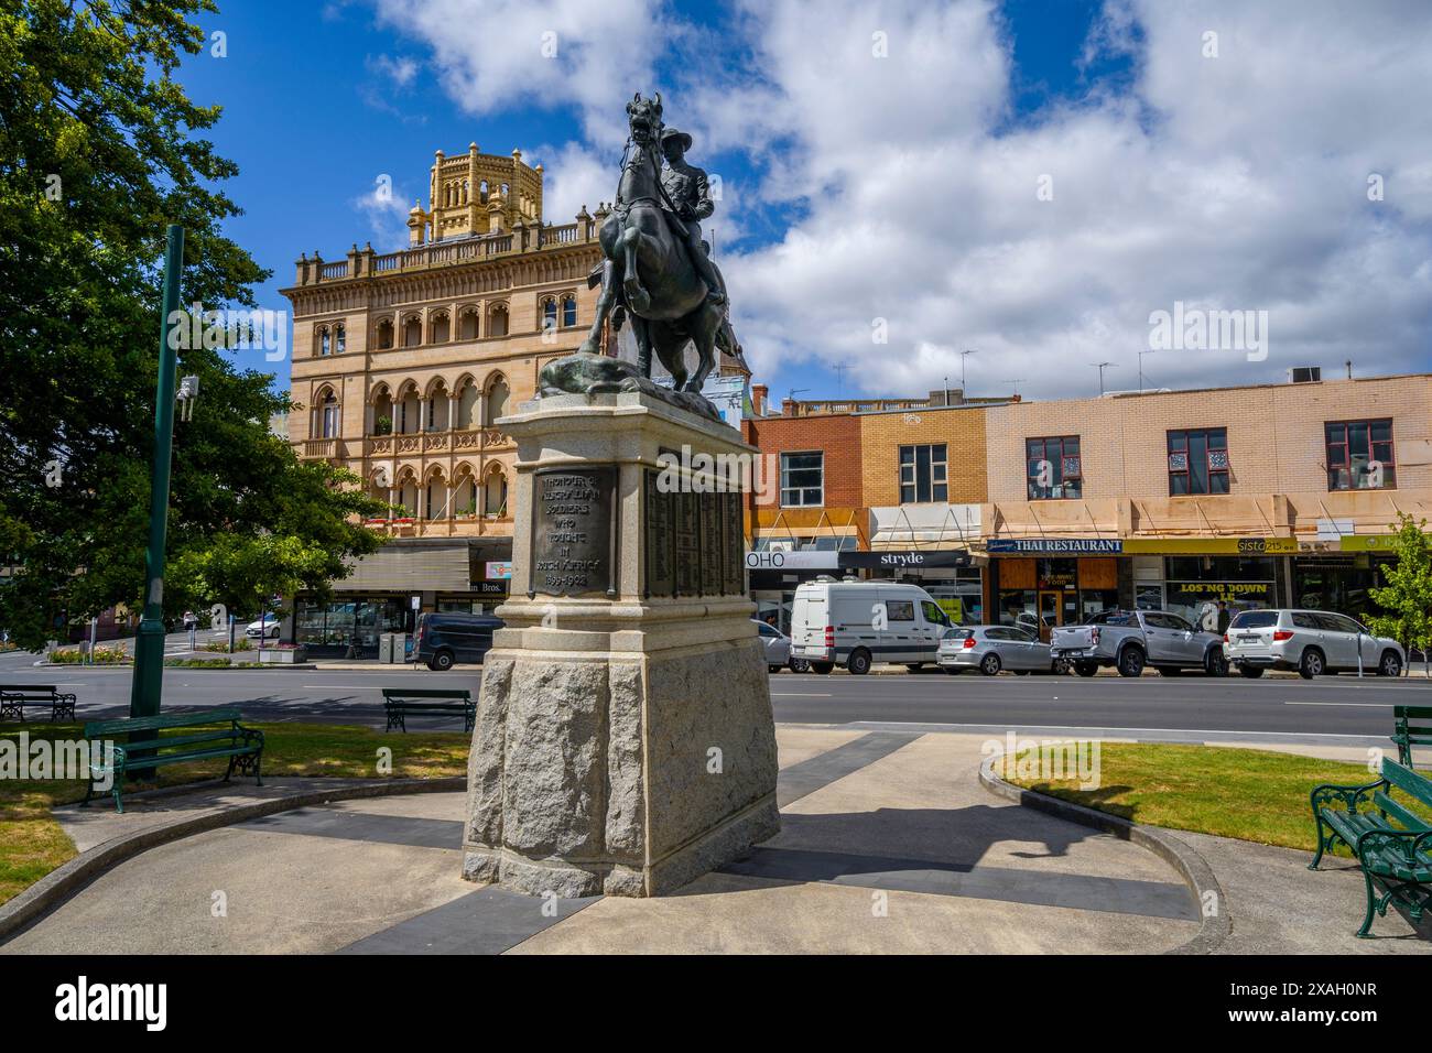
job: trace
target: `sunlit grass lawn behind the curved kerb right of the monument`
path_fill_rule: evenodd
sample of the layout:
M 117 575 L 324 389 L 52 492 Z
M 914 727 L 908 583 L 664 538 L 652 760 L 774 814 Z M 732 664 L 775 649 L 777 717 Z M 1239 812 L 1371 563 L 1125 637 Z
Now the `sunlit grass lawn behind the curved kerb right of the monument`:
M 1378 776 L 1362 764 L 1260 749 L 1106 742 L 1097 789 L 1081 791 L 1077 779 L 1008 781 L 1134 822 L 1315 851 L 1313 787 L 1365 787 Z M 1428 814 L 1400 791 L 1393 797 Z

